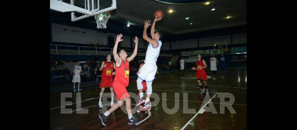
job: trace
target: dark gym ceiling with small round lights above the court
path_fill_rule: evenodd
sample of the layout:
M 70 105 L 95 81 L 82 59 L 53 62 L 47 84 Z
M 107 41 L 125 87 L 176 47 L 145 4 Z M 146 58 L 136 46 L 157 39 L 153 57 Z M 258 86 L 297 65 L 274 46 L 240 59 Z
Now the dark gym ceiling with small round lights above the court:
M 68 3 L 68 1 L 66 0 L 65 2 Z M 204 2 L 168 4 L 162 1 Z M 130 27 L 143 28 L 144 20 L 154 20 L 154 12 L 162 10 L 164 16 L 162 20 L 156 23 L 156 29 L 172 34 L 247 24 L 247 0 L 212 0 L 208 2 L 210 4 L 205 5 L 205 0 L 117 0 L 117 9 L 110 11 L 112 15 L 110 21 L 129 23 Z M 215 10 L 211 11 L 213 8 Z M 168 13 L 168 9 L 172 9 L 174 12 Z M 230 16 L 230 18 L 226 19 L 227 16 Z M 186 17 L 189 17 L 189 19 L 186 20 Z M 95 21 L 94 17 L 88 17 L 85 20 Z

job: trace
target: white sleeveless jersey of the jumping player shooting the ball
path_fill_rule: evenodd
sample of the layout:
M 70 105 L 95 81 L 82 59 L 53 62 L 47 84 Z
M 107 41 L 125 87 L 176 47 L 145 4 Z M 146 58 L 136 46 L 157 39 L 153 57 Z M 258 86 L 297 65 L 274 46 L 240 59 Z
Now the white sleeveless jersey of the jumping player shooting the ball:
M 156 40 L 159 43 L 158 47 L 154 47 L 153 44 L 148 45 L 148 49 L 146 50 L 146 59 L 144 60 L 144 62 L 151 62 L 151 63 L 155 63 L 159 57 L 160 54 L 160 50 L 161 50 L 161 46 L 162 46 L 162 42 L 161 40 Z

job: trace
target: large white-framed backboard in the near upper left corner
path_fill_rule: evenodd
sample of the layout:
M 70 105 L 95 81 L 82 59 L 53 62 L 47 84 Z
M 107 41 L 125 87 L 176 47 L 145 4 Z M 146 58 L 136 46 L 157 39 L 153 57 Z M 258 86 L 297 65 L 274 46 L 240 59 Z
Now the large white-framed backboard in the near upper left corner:
M 71 21 L 116 9 L 116 0 L 50 0 L 50 9 L 71 12 Z

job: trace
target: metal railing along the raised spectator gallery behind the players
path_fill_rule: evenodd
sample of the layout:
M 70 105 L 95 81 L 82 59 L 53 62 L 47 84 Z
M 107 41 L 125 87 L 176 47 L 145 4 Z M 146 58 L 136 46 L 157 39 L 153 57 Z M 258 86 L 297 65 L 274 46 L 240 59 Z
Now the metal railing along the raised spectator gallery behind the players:
M 120 48 L 120 47 L 119 47 Z M 100 52 L 112 52 L 113 48 L 107 47 L 90 47 L 90 46 L 69 46 L 69 45 L 56 45 L 50 44 L 50 53 L 56 54 L 73 54 L 73 55 L 100 55 L 104 53 Z M 120 50 L 120 49 L 118 49 Z M 125 49 L 126 52 L 133 52 L 134 49 Z M 146 53 L 146 50 L 138 49 L 137 52 Z M 170 54 L 173 55 L 173 52 L 163 52 L 160 51 L 160 54 Z

